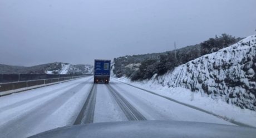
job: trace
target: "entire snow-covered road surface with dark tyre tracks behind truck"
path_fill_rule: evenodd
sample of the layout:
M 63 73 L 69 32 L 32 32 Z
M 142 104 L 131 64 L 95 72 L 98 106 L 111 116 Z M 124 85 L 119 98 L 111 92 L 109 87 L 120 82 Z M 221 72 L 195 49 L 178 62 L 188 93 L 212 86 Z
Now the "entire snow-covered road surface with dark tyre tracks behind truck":
M 234 125 L 161 96 L 92 76 L 0 97 L 0 137 L 28 137 L 62 126 L 130 120 L 178 120 Z

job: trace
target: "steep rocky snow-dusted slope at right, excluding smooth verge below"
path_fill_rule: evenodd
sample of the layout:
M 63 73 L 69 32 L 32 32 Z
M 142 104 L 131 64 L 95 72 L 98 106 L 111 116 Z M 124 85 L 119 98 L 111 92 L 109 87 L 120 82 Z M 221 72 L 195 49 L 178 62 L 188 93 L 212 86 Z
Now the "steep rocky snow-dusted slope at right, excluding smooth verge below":
M 160 76 L 154 83 L 182 87 L 256 110 L 256 35 L 204 55 Z M 210 103 L 209 103 L 210 104 Z

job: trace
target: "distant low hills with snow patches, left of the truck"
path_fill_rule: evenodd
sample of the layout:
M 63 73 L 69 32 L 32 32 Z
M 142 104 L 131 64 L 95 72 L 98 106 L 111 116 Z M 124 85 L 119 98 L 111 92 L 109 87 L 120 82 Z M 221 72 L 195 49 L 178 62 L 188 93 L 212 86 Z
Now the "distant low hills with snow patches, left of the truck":
M 32 67 L 0 64 L 0 74 L 92 74 L 93 65 L 48 63 Z

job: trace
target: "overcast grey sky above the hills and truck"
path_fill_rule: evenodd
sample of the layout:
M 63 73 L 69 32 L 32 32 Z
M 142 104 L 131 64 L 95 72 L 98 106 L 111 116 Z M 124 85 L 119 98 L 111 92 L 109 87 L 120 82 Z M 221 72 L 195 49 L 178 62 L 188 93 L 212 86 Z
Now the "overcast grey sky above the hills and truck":
M 0 64 L 92 64 L 255 34 L 255 0 L 0 0 Z

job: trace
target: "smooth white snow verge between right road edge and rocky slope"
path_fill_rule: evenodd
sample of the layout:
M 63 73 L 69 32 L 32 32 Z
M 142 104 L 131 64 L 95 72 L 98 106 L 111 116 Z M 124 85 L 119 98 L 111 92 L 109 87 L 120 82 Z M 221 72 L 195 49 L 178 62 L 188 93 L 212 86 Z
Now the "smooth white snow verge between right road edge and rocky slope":
M 256 112 L 249 109 L 240 109 L 237 106 L 230 105 L 224 101 L 214 100 L 200 93 L 193 93 L 185 88 L 169 88 L 154 84 L 151 81 L 132 82 L 127 78 L 119 78 L 119 81 L 137 86 L 139 88 L 152 91 L 153 93 L 166 96 L 168 98 L 179 101 L 180 103 L 192 105 L 210 113 L 223 116 L 226 120 L 237 121 L 245 125 L 256 127 Z

